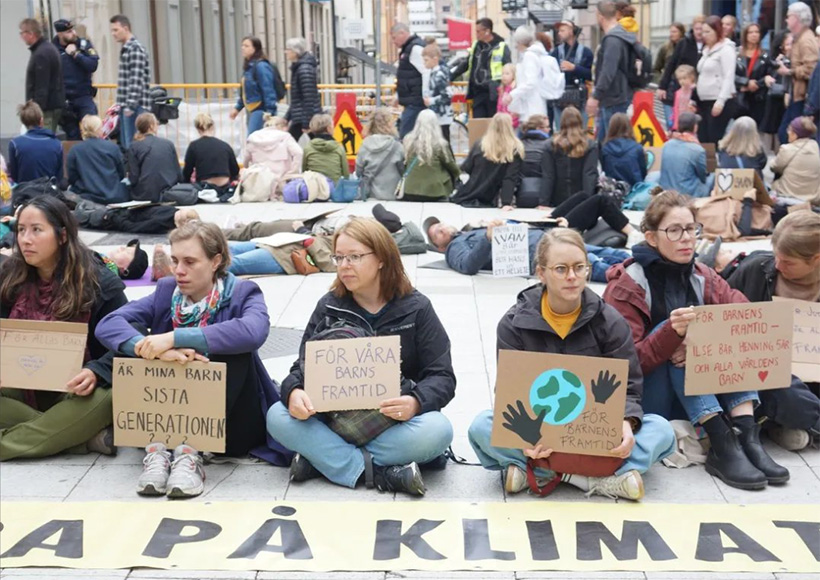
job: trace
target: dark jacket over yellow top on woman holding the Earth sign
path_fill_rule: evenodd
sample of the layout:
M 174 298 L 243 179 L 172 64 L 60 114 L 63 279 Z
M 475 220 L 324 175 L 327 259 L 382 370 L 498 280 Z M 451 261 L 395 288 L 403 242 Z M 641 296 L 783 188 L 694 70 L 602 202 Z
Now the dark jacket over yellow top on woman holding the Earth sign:
M 517 302 L 498 322 L 497 350 L 525 350 L 618 358 L 629 361 L 624 417 L 643 419 L 643 374 L 629 324 L 612 306 L 589 288 L 581 297 L 581 314 L 566 338 L 558 336 L 541 315 L 544 286 L 537 284 L 518 294 Z M 636 429 L 637 430 L 637 429 Z

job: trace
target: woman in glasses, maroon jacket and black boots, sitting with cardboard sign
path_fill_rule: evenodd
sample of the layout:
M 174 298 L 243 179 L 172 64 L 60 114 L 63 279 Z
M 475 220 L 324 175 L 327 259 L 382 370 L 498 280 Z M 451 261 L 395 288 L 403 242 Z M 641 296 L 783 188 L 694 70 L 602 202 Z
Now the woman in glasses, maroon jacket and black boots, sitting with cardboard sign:
M 673 418 L 673 407 L 679 402 L 689 420 L 709 434 L 712 447 L 706 471 L 739 489 L 785 483 L 789 471 L 775 463 L 760 443 L 760 426 L 753 414 L 760 401 L 756 391 L 717 396 L 684 393 L 684 339 L 695 318 L 692 307 L 747 302 L 717 272 L 695 262 L 702 226 L 695 221 L 690 202 L 674 191 L 652 200 L 641 224 L 646 242 L 632 249 L 633 259 L 609 270 L 604 300 L 632 328 L 645 375 L 644 408 Z

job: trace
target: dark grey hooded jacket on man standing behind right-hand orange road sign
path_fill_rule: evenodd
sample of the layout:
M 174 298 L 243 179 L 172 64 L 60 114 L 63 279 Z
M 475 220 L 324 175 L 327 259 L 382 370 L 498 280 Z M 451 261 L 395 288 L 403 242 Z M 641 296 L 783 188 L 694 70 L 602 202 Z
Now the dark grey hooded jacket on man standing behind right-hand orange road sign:
M 595 88 L 592 96 L 601 107 L 632 102 L 632 87 L 627 80 L 631 46 L 635 35 L 620 24 L 606 33 L 595 55 Z

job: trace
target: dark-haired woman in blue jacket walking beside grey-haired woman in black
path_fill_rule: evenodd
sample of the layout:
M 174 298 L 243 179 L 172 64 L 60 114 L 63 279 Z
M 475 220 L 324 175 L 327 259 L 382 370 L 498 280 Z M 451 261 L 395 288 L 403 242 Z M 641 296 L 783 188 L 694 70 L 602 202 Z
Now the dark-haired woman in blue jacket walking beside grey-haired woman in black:
M 276 104 L 285 95 L 276 93 L 276 76 L 279 72 L 268 61 L 262 49 L 262 41 L 255 36 L 242 39 L 242 82 L 236 107 L 231 111 L 231 119 L 236 119 L 242 109 L 248 119 L 248 136 L 264 126 L 264 115 L 276 115 Z

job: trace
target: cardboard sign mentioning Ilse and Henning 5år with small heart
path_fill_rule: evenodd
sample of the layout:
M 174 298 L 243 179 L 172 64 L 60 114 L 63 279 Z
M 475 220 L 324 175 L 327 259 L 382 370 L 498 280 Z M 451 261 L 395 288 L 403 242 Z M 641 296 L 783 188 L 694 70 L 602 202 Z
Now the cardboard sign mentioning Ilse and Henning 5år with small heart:
M 794 312 L 785 302 L 695 307 L 686 332 L 687 395 L 791 384 Z

